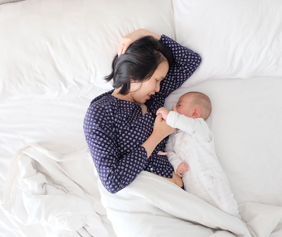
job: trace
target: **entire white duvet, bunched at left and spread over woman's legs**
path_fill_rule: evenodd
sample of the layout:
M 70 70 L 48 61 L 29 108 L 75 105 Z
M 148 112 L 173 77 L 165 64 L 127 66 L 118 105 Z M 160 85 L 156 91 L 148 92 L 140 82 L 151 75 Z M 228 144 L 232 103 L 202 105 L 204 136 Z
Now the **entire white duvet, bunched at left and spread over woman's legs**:
M 111 194 L 87 148 L 60 155 L 37 143 L 14 155 L 1 209 L 24 225 L 40 223 L 46 236 L 282 235 L 282 207 L 239 204 L 241 221 L 146 171 Z

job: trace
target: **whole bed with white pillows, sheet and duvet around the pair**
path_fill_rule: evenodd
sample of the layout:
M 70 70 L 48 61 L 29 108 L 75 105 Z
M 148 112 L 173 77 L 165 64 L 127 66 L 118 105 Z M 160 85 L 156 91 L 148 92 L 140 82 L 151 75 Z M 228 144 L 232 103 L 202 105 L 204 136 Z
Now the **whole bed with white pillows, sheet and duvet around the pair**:
M 279 0 L 26 0 L 0 5 L 1 236 L 282 236 Z M 139 28 L 199 53 L 167 98 L 207 94 L 207 123 L 242 221 L 149 172 L 101 185 L 82 129 Z M 144 186 L 146 183 L 146 186 Z

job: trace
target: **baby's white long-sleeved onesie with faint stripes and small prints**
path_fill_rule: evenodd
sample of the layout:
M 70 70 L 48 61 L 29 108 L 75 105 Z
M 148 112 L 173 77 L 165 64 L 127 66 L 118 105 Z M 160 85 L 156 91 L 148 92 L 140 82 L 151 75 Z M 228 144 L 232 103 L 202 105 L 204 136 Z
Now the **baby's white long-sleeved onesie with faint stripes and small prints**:
M 182 174 L 184 189 L 209 204 L 239 217 L 238 204 L 214 151 L 214 140 L 202 118 L 189 118 L 170 111 L 167 124 L 177 128 L 166 144 L 174 172 L 181 162 L 189 165 Z

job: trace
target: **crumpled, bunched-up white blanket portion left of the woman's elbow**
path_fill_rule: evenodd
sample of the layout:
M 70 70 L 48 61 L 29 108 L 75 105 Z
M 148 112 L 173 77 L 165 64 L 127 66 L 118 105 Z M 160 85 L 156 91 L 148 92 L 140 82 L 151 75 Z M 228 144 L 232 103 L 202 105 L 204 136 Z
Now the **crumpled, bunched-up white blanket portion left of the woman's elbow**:
M 11 160 L 1 209 L 23 225 L 41 223 L 46 236 L 107 237 L 100 199 L 88 148 L 60 155 L 27 143 Z

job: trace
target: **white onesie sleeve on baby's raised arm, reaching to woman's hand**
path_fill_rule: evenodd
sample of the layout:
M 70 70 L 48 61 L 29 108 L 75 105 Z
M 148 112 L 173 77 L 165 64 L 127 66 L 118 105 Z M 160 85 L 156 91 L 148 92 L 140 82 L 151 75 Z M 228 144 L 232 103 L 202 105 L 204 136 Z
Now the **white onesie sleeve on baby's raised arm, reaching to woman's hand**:
M 178 112 L 170 111 L 167 115 L 167 124 L 188 134 L 193 134 L 209 141 L 212 139 L 208 125 L 202 118 L 189 118 Z

